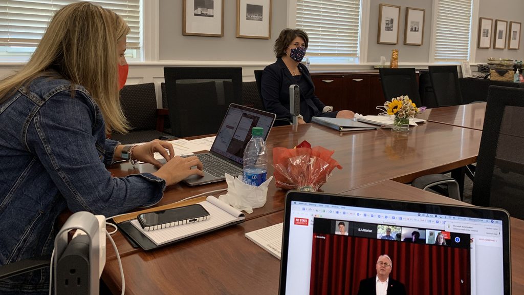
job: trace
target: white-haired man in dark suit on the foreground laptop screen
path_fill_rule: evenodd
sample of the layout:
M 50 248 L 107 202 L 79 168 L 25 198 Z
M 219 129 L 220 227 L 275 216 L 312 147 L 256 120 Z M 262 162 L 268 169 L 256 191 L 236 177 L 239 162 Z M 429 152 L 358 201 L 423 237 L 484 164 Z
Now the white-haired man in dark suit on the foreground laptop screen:
M 380 255 L 377 260 L 377 276 L 362 280 L 357 295 L 406 295 L 404 284 L 389 278 L 392 267 L 391 258 L 386 254 Z

